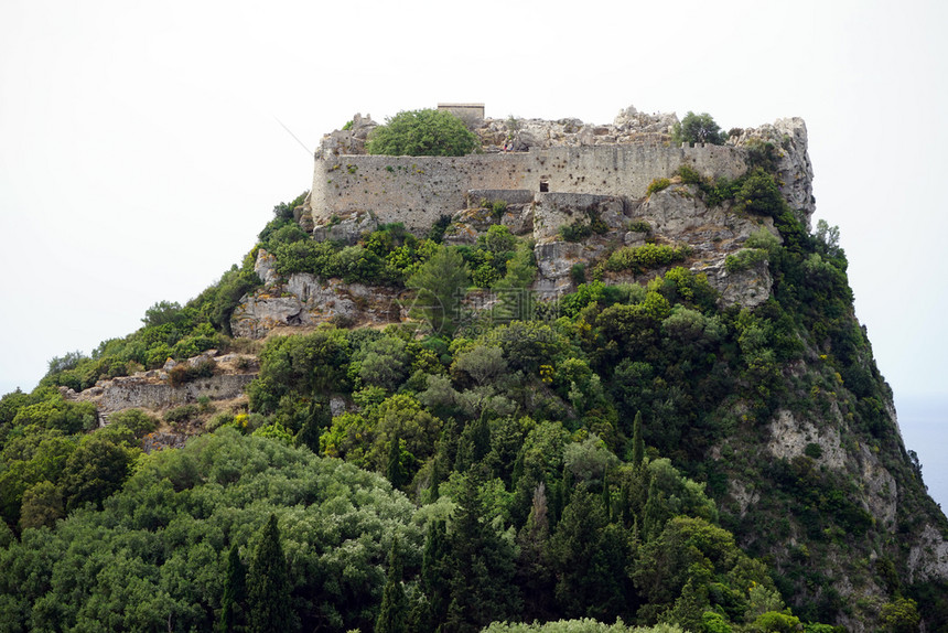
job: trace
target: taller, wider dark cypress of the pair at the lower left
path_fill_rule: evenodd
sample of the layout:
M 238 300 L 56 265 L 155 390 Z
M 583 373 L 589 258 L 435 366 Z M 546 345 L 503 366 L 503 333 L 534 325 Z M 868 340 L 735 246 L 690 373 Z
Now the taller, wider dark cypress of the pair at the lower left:
M 247 578 L 247 607 L 251 632 L 291 631 L 290 579 L 280 544 L 277 515 L 257 536 Z

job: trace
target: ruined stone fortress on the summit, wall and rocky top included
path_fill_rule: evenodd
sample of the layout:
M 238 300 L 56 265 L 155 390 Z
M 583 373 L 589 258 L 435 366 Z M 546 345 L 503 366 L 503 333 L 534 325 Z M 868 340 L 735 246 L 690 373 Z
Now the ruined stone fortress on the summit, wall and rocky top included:
M 465 157 L 367 155 L 365 140 L 377 124 L 356 115 L 348 130 L 323 138 L 315 153 L 309 200 L 315 226 L 374 214 L 379 223 L 400 222 L 427 230 L 442 215 L 468 208 L 481 197 L 545 203 L 545 194 L 645 197 L 649 183 L 671 178 L 689 164 L 708 178 L 736 178 L 745 163 L 747 141 L 776 140 L 784 147 L 790 173 L 785 194 L 805 219 L 812 213 L 812 170 L 802 119 L 779 119 L 774 126 L 742 130 L 723 146 L 670 140 L 675 115 L 647 115 L 626 108 L 611 126 L 579 119 L 472 119 L 478 105 L 446 105 L 467 120 L 482 141 L 483 153 Z M 483 105 L 480 105 L 483 108 Z M 483 111 L 483 110 L 482 110 Z M 513 151 L 505 151 L 505 146 Z M 783 175 L 783 174 L 782 174 Z

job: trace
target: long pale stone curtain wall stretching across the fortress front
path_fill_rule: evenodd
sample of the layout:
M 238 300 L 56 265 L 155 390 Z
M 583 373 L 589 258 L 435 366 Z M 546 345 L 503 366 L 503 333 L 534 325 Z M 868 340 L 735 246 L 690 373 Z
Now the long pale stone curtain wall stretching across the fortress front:
M 656 178 L 688 162 L 703 175 L 735 178 L 746 165 L 731 146 L 631 143 L 552 147 L 466 157 L 334 155 L 315 161 L 311 207 L 317 226 L 370 211 L 416 233 L 466 206 L 468 190 L 529 190 L 644 197 Z

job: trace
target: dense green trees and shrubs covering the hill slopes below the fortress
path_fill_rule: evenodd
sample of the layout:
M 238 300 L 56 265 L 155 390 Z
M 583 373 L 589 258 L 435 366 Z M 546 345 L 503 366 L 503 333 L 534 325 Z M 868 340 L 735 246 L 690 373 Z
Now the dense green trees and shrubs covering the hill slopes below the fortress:
M 531 245 L 503 226 L 465 248 L 398 225 L 344 246 L 306 239 L 295 205 L 278 206 L 258 248 L 281 275 L 416 289 L 419 321 L 270 337 L 249 410 L 218 412 L 180 450 L 142 454 L 159 423 L 147 414 L 97 429 L 91 405 L 63 399 L 56 385 L 114 366 L 236 345 L 222 319 L 259 283 L 248 256 L 3 396 L 0 629 L 829 633 L 819 622 L 841 614 L 908 631 L 919 611 L 944 625 L 945 587 L 899 580 L 855 474 L 821 468 L 816 443 L 793 460 L 760 450 L 778 411 L 806 412 L 844 420 L 844 442 L 916 476 L 838 233 L 807 233 L 765 167 L 678 175 L 709 203 L 774 218 L 783 245 L 762 230 L 746 244 L 760 255 L 741 256 L 775 280 L 756 310 L 721 308 L 705 278 L 669 269 L 681 248 L 616 249 L 603 269 L 665 272 L 537 305 Z M 472 286 L 494 291 L 489 310 L 462 302 Z M 743 513 L 733 486 L 766 494 Z M 907 534 L 931 502 L 904 487 Z M 880 602 L 843 603 L 828 557 L 852 559 L 840 565 Z

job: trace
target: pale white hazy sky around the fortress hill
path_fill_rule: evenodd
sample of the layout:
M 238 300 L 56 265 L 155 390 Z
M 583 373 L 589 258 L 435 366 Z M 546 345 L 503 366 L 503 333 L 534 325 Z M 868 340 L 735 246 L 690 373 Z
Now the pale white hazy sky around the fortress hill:
M 896 403 L 948 396 L 946 26 L 920 0 L 3 0 L 0 393 L 214 282 L 354 112 L 473 100 L 804 117 L 817 217 Z

